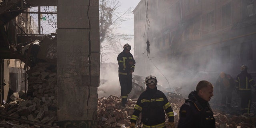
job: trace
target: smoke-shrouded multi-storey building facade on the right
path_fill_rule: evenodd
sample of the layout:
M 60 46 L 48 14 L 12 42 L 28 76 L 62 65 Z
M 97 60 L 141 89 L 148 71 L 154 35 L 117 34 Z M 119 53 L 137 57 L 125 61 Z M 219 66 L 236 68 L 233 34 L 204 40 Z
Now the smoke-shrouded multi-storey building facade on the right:
M 256 78 L 256 1 L 140 0 L 133 12 L 138 75 L 155 68 L 151 60 L 176 76 L 203 71 L 216 82 L 220 72 L 236 77 L 246 65 Z

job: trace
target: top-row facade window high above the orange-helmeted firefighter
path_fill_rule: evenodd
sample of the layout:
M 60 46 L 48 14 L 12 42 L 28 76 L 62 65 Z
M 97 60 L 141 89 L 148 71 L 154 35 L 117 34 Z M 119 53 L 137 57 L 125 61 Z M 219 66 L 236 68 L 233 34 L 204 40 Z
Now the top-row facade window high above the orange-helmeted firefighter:
M 231 2 L 222 6 L 222 26 L 226 27 L 231 25 L 232 22 L 232 5 Z

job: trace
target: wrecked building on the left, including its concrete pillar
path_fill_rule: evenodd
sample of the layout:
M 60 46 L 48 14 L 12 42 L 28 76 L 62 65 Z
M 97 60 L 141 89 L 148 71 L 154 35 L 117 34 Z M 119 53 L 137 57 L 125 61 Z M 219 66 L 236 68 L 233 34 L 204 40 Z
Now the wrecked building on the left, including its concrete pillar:
M 10 91 L 24 90 L 29 99 L 19 108 L 29 107 L 33 113 L 9 114 L 48 125 L 58 122 L 60 127 L 77 123 L 95 127 L 98 6 L 98 0 L 0 1 L 0 102 L 10 101 Z

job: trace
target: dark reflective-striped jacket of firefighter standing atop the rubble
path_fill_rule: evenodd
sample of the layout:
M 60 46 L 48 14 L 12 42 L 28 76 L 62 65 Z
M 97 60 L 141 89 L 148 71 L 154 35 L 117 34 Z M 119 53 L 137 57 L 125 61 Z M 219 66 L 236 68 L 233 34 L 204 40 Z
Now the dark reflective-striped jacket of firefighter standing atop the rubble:
M 125 53 L 123 51 L 120 54 L 118 54 L 117 61 L 118 61 L 118 65 L 119 65 L 119 68 L 118 68 L 119 75 L 128 75 L 130 73 L 130 70 L 134 71 L 136 62 L 130 52 Z M 129 61 L 132 61 L 133 64 L 130 65 Z

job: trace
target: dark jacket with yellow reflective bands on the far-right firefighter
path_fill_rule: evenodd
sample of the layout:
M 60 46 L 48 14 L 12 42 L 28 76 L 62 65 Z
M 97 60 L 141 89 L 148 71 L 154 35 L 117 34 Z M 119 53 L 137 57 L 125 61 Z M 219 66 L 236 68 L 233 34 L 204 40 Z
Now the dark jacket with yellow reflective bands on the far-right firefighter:
M 245 71 L 240 72 L 236 77 L 236 90 L 237 91 L 250 91 L 251 86 L 256 88 L 256 84 L 252 79 L 251 74 L 248 74 Z

